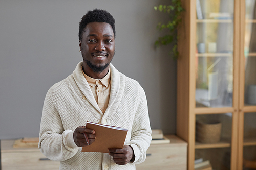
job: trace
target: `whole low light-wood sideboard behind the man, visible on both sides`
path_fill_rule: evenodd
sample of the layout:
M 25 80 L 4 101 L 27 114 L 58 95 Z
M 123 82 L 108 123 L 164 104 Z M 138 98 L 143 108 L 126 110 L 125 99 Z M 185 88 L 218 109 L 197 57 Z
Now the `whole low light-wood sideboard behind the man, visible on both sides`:
M 175 135 L 166 135 L 169 144 L 151 144 L 146 160 L 136 165 L 142 169 L 179 169 L 187 168 L 187 143 Z M 13 148 L 14 140 L 1 140 L 1 170 L 13 169 L 59 169 L 59 162 L 47 159 L 38 148 Z

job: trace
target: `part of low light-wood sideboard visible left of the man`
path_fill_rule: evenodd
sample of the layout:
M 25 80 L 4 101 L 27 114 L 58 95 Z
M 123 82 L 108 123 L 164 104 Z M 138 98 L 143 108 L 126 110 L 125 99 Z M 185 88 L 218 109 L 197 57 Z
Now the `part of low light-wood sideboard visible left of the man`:
M 13 148 L 14 140 L 1 140 L 2 170 L 59 169 L 59 162 L 47 159 L 38 148 Z

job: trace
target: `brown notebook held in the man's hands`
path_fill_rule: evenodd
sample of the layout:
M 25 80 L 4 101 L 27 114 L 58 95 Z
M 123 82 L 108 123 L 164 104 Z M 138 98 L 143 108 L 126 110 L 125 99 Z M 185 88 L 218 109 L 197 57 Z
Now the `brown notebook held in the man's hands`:
M 86 127 L 95 130 L 96 138 L 91 145 L 82 147 L 82 152 L 108 153 L 109 148 L 123 148 L 127 129 L 88 121 Z

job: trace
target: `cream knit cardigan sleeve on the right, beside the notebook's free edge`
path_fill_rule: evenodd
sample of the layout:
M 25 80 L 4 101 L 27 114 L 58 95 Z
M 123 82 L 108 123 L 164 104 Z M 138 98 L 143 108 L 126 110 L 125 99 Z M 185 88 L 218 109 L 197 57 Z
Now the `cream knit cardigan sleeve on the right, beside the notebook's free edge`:
M 146 150 L 150 146 L 151 142 L 151 127 L 150 119 L 148 117 L 147 101 L 144 90 L 141 87 L 139 107 L 136 111 L 131 141 L 127 143 L 133 148 L 135 160 L 133 164 L 139 164 L 146 159 Z

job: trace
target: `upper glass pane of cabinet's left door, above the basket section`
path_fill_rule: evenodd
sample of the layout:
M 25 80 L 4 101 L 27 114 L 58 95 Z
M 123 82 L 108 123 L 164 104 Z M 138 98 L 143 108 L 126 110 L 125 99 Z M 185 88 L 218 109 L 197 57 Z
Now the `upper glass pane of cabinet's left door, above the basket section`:
M 196 107 L 232 107 L 234 0 L 197 0 Z

